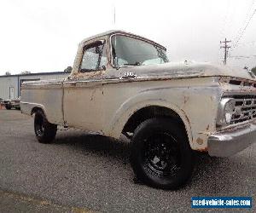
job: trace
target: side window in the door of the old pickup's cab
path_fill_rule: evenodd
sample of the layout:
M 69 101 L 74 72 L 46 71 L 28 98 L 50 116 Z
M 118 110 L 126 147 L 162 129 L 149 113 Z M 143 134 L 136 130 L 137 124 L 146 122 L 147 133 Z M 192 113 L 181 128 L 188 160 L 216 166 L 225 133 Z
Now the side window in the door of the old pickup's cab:
M 102 70 L 107 65 L 106 45 L 99 41 L 84 47 L 84 55 L 80 72 L 93 72 Z

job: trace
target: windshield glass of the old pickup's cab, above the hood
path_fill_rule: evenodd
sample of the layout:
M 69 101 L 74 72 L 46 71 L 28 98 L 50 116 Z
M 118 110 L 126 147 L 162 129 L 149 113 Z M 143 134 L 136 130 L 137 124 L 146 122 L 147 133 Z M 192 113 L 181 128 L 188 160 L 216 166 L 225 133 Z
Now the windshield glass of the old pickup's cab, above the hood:
M 113 66 L 140 66 L 168 62 L 166 50 L 134 37 L 111 38 Z

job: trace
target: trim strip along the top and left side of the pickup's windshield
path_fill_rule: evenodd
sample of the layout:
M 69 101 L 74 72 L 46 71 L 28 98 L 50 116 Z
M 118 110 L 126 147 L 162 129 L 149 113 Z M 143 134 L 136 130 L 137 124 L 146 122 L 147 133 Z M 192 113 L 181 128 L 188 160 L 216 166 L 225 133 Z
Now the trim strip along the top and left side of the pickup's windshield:
M 112 35 L 110 35 L 110 37 L 109 37 L 109 45 L 110 45 L 109 49 L 110 49 L 110 59 L 111 59 L 110 60 L 110 65 L 113 68 L 119 68 L 119 66 L 114 66 L 113 65 L 113 49 L 112 49 L 112 37 L 113 36 L 125 36 L 125 37 L 136 38 L 136 39 L 141 40 L 143 42 L 153 44 L 154 46 L 157 46 L 160 49 L 164 49 L 166 51 L 166 48 L 164 46 L 160 45 L 159 43 L 155 43 L 154 41 L 148 40 L 147 38 L 139 37 L 139 36 L 131 35 L 131 34 L 126 34 L 126 33 L 123 33 L 123 32 L 116 32 L 116 33 L 113 33 Z

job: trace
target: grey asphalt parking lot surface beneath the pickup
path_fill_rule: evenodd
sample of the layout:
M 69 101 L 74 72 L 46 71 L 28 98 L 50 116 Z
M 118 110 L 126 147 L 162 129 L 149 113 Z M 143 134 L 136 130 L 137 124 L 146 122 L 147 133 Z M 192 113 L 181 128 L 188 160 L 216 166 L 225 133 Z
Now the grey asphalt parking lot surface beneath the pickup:
M 0 197 L 22 194 L 67 206 L 63 207 L 67 211 L 84 208 L 102 212 L 184 212 L 192 210 L 193 196 L 255 198 L 256 144 L 230 158 L 200 155 L 191 181 L 177 191 L 133 181 L 129 147 L 127 142 L 81 130 L 59 130 L 54 143 L 40 144 L 31 117 L 0 110 Z M 11 211 L 12 202 L 1 199 L 0 211 Z M 19 210 L 19 206 L 25 211 L 29 208 L 17 203 L 12 210 Z

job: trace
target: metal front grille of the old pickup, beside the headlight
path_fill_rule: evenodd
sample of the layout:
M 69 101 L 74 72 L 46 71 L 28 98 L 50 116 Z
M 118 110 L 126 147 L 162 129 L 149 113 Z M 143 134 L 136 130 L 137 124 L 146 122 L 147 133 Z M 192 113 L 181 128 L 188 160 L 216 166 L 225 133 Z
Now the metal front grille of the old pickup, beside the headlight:
M 231 124 L 256 118 L 256 95 L 233 95 L 234 110 Z

